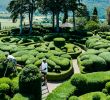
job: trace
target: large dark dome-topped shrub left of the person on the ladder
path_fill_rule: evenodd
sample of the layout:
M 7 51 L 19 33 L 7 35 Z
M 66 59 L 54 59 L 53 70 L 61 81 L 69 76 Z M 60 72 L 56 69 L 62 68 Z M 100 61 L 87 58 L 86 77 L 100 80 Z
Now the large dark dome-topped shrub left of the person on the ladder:
M 19 76 L 19 89 L 21 93 L 34 95 L 41 100 L 41 75 L 36 66 L 26 66 Z

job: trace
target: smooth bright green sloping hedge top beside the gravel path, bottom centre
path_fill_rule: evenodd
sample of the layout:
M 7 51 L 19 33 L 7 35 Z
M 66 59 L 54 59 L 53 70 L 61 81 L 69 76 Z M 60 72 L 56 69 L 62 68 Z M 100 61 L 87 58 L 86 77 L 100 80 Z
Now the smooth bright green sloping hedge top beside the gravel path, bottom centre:
M 74 93 L 75 90 L 76 87 L 73 86 L 70 81 L 66 81 L 53 90 L 53 92 L 48 95 L 46 100 L 67 100 L 67 97 Z

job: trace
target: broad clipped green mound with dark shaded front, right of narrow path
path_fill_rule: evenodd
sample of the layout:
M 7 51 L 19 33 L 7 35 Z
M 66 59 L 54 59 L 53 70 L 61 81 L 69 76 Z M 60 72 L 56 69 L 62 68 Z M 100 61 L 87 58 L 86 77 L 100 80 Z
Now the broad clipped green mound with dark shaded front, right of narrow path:
M 94 55 L 92 53 L 87 53 L 87 52 L 85 52 L 84 54 L 81 54 L 77 58 L 78 65 L 79 65 L 81 72 L 88 73 L 88 72 L 105 71 L 105 70 L 107 71 L 108 63 L 104 57 L 101 57 L 99 55 L 97 56 L 97 55 Z

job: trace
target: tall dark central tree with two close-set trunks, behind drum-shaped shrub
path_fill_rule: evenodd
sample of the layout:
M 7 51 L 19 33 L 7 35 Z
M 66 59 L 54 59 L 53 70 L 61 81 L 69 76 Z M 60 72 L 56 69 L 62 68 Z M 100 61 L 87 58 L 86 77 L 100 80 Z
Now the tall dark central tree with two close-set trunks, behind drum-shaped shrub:
M 53 15 L 53 28 L 54 16 L 56 15 L 56 31 L 59 32 L 59 14 L 62 11 L 63 5 L 66 0 L 42 0 L 41 9 L 44 13 L 52 13 Z

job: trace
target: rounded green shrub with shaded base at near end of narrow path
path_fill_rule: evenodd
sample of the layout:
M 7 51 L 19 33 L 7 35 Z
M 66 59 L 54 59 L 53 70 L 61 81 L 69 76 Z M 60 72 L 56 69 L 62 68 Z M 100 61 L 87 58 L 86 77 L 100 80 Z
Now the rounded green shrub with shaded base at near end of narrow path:
M 74 74 L 71 78 L 71 84 L 76 86 L 79 90 L 84 91 L 84 87 L 86 87 L 87 79 L 82 74 Z

